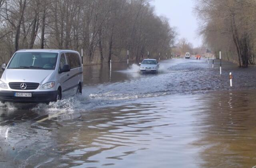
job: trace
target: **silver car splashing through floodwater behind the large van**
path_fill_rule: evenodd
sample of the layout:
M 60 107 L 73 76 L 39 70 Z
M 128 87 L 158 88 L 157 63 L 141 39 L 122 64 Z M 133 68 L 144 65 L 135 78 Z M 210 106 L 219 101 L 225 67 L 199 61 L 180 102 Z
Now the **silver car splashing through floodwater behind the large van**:
M 156 73 L 159 69 L 159 63 L 156 59 L 144 59 L 142 63 L 140 63 L 140 72 L 142 73 Z

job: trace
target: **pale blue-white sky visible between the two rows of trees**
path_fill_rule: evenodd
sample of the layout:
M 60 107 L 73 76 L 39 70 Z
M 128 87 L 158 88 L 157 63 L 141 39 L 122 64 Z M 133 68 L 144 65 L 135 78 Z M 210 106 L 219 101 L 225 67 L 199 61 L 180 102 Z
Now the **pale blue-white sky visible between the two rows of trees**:
M 177 27 L 178 39 L 186 38 L 193 47 L 202 45 L 201 37 L 198 37 L 198 21 L 193 12 L 194 0 L 152 0 L 156 14 L 166 16 L 170 25 Z

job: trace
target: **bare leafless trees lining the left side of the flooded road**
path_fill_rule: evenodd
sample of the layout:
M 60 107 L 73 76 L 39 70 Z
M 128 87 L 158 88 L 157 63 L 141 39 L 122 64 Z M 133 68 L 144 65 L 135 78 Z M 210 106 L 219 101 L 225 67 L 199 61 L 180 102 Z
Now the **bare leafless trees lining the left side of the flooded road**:
M 176 37 L 149 0 L 0 0 L 0 59 L 19 49 L 72 49 L 84 63 L 170 54 Z

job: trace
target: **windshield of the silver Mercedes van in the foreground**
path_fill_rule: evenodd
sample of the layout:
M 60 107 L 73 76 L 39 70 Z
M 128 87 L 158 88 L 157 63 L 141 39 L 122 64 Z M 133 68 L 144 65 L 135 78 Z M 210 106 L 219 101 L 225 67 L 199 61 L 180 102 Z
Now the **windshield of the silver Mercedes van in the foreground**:
M 8 69 L 46 69 L 54 70 L 58 53 L 22 52 L 16 53 Z

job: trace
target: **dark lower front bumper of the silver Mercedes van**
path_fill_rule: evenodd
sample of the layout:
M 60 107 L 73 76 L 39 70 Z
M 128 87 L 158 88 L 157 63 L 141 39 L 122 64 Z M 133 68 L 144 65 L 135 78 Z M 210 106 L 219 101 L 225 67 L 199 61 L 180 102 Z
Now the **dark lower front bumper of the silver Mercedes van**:
M 0 90 L 0 102 L 49 103 L 54 102 L 57 96 L 57 91 L 29 92 L 32 97 L 16 97 L 14 93 Z

